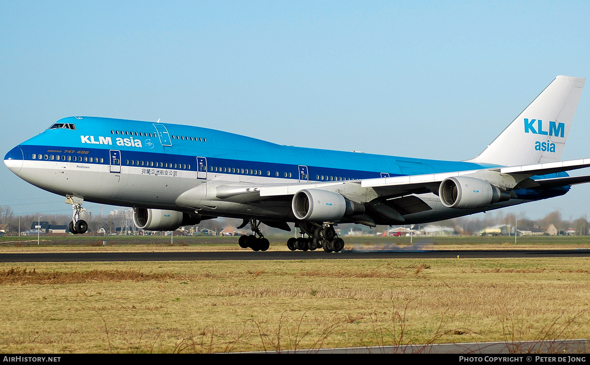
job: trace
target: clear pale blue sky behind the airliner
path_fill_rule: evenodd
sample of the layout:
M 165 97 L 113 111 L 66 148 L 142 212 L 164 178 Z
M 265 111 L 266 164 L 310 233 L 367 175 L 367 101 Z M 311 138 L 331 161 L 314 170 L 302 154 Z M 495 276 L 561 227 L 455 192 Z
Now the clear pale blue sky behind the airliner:
M 590 77 L 588 19 L 588 2 L 0 0 L 0 152 L 82 115 L 468 159 L 556 75 Z M 590 157 L 589 122 L 585 90 L 563 159 Z M 0 183 L 17 212 L 71 212 L 4 164 Z M 589 195 L 504 212 L 590 216 Z

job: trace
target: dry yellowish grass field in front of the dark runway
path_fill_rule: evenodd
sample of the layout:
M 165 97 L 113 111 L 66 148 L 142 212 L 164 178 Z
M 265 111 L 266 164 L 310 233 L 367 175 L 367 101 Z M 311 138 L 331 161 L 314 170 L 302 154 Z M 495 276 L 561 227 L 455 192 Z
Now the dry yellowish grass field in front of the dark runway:
M 590 337 L 588 258 L 27 265 L 0 265 L 4 352 Z

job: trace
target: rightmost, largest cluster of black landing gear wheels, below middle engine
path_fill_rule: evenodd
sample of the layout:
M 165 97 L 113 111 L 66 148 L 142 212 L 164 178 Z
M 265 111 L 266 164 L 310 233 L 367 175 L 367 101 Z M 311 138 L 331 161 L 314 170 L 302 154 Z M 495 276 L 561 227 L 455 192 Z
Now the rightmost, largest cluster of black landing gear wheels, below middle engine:
M 344 240 L 336 235 L 331 223 L 319 225 L 317 223 L 298 222 L 301 238 L 289 238 L 287 247 L 291 251 L 314 251 L 322 248 L 325 252 L 340 252 L 344 248 Z M 307 235 L 307 237 L 304 237 Z

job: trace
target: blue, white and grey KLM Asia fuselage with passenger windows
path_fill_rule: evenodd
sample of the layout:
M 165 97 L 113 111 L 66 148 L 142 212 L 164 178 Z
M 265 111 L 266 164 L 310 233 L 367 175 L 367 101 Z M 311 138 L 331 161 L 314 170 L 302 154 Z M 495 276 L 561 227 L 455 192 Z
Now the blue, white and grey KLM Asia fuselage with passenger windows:
M 251 204 L 239 197 L 219 198 L 216 189 L 239 183 L 334 182 L 492 167 L 281 146 L 201 127 L 101 117 L 59 120 L 14 147 L 5 164 L 32 185 L 85 201 L 285 221 L 294 217 L 283 200 Z M 538 198 L 521 192 L 519 199 L 493 208 L 565 192 L 557 189 Z M 410 215 L 408 223 L 476 212 L 444 209 L 433 194 L 422 194 L 421 199 L 432 211 Z

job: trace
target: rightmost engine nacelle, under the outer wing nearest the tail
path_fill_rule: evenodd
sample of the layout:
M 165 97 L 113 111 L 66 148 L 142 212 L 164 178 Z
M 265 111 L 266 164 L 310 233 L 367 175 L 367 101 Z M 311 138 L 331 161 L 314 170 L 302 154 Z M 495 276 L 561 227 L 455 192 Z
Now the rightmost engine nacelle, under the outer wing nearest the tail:
M 505 202 L 510 193 L 477 177 L 457 176 L 442 180 L 438 188 L 442 205 L 447 208 L 486 208 L 490 204 Z

